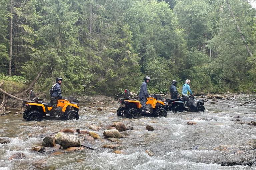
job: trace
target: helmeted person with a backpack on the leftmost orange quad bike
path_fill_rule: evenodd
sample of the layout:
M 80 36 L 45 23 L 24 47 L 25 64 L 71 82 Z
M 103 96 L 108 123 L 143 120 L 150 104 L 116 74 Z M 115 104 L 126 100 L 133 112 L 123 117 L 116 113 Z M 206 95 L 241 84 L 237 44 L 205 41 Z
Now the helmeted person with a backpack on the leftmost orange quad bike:
M 56 78 L 56 84 L 54 84 L 49 91 L 51 95 L 51 103 L 52 103 L 52 110 L 50 112 L 50 115 L 52 114 L 51 116 L 54 116 L 54 117 L 58 117 L 57 110 L 56 110 L 57 104 L 58 104 L 58 100 L 62 99 L 61 89 L 60 89 L 61 83 L 62 83 L 62 78 L 61 77 Z

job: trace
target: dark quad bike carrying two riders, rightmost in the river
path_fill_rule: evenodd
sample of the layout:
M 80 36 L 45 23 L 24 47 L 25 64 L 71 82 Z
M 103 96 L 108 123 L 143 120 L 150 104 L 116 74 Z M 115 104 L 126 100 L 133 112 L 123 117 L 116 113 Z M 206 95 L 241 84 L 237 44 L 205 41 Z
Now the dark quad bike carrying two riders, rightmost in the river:
M 198 100 L 193 96 L 189 96 L 189 101 L 187 102 L 186 106 L 185 103 L 183 102 L 182 98 L 178 99 L 170 99 L 166 98 L 166 106 L 165 109 L 167 111 L 172 111 L 172 112 L 183 112 L 185 111 L 190 111 L 190 112 L 204 112 L 204 102 L 202 100 Z

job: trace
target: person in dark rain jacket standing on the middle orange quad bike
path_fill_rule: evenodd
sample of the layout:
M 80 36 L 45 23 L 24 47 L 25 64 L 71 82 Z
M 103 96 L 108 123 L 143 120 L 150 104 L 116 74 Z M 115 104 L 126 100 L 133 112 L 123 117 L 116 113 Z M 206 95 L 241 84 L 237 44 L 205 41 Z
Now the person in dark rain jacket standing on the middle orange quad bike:
M 139 98 L 142 105 L 141 111 L 144 113 L 150 113 L 149 111 L 147 111 L 147 108 L 146 108 L 147 98 L 149 97 L 148 87 L 147 87 L 147 83 L 149 83 L 149 81 L 150 81 L 150 77 L 146 76 L 145 81 L 142 83 L 140 87 L 140 93 L 139 93 Z

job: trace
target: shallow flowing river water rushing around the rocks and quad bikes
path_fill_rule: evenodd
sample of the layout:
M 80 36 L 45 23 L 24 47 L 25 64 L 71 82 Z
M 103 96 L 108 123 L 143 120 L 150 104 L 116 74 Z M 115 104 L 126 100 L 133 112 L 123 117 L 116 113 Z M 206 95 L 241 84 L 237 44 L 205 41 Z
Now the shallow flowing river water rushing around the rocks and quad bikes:
M 205 102 L 205 112 L 167 112 L 165 118 L 118 117 L 117 101 L 80 104 L 79 120 L 70 121 L 26 122 L 21 114 L 17 116 L 11 112 L 0 116 L 0 137 L 11 139 L 10 143 L 0 144 L 0 170 L 36 167 L 45 170 L 255 169 L 256 126 L 248 125 L 251 121 L 256 122 L 255 102 L 232 108 L 244 103 L 245 98 L 240 95 L 231 100 L 216 100 L 216 104 L 210 104 L 211 100 Z M 103 110 L 98 111 L 98 107 Z M 196 125 L 187 125 L 188 121 Z M 103 148 L 105 144 L 116 144 L 103 136 L 103 127 L 114 122 L 132 126 L 133 130 L 120 132 L 124 137 L 120 138 L 119 147 Z M 94 131 L 102 139 L 88 142 L 95 150 L 30 151 L 51 133 L 63 128 L 90 131 L 88 127 L 93 124 L 102 126 Z M 146 130 L 147 125 L 155 130 Z M 122 153 L 114 153 L 115 150 Z M 10 160 L 15 153 L 23 153 L 25 157 Z

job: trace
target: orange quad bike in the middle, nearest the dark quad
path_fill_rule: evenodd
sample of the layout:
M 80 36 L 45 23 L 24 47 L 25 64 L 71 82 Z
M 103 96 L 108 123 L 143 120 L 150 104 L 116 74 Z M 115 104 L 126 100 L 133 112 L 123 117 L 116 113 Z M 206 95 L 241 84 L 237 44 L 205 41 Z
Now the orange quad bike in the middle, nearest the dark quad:
M 117 116 L 125 115 L 126 118 L 137 118 L 139 114 L 143 116 L 155 116 L 155 117 L 166 117 L 167 112 L 164 109 L 165 101 L 161 98 L 160 95 L 152 95 L 147 98 L 146 107 L 147 111 L 150 113 L 147 114 L 142 112 L 141 101 L 132 99 L 130 97 L 130 91 L 125 90 L 124 98 L 119 98 L 118 103 L 120 107 L 117 109 Z

